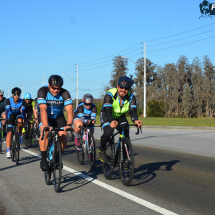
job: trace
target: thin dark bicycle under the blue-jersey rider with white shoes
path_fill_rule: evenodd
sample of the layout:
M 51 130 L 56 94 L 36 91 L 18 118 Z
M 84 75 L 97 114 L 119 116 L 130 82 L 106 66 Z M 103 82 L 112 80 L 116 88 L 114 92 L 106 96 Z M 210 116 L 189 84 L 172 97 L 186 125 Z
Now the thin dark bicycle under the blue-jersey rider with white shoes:
M 18 124 L 19 123 L 15 121 L 15 126 L 13 126 L 12 140 L 10 144 L 11 159 L 13 162 L 16 162 L 16 165 L 18 165 L 19 163 L 19 151 L 20 151 L 19 135 L 17 131 Z

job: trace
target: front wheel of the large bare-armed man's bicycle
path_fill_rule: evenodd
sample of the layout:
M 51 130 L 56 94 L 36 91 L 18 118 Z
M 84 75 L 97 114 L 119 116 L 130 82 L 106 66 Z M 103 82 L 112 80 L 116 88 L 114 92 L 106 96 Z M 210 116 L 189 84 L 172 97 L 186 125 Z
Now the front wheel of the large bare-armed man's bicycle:
M 54 190 L 58 193 L 62 176 L 62 156 L 59 141 L 54 141 L 53 167 Z

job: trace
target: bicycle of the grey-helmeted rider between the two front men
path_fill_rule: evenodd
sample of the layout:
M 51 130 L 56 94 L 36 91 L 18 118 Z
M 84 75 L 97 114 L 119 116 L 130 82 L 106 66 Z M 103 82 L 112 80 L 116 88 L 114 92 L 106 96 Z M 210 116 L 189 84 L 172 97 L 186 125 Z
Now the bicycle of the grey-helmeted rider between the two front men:
M 101 126 L 96 126 L 94 125 L 93 127 L 101 127 Z M 95 160 L 96 160 L 96 145 L 95 145 L 95 140 L 93 137 L 93 134 L 90 133 L 90 128 L 88 124 L 84 124 L 81 132 L 81 140 L 84 142 L 80 145 L 80 150 L 76 147 L 76 153 L 78 157 L 79 163 L 82 165 L 84 163 L 84 157 L 85 154 L 88 158 L 88 163 L 90 165 L 90 169 L 93 169 L 95 166 Z M 85 137 L 85 139 L 83 139 Z M 90 140 L 90 141 L 89 141 Z M 92 144 L 90 146 L 89 142 Z

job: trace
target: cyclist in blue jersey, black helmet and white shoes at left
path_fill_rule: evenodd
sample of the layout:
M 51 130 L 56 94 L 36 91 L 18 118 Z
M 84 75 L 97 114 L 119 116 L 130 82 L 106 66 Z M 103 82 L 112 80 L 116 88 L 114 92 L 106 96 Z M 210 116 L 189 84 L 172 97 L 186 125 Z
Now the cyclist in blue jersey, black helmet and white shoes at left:
M 12 139 L 12 132 L 15 120 L 18 124 L 19 132 L 19 142 L 22 143 L 22 126 L 23 119 L 26 119 L 25 116 L 25 102 L 23 99 L 20 99 L 21 90 L 18 87 L 12 89 L 12 97 L 6 100 L 6 124 L 7 124 L 7 154 L 6 157 L 10 158 L 10 144 Z

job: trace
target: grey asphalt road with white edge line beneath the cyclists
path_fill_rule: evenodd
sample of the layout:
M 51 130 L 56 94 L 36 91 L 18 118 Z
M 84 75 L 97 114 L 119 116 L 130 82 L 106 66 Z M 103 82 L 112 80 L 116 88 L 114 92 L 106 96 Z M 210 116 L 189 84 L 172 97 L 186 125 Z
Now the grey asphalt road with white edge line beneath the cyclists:
M 131 129 L 135 175 L 130 187 L 122 185 L 118 167 L 113 178 L 106 180 L 98 159 L 92 171 L 87 162 L 79 165 L 71 141 L 63 153 L 65 168 L 58 194 L 53 185 L 45 185 L 40 158 L 28 153 L 39 154 L 36 146 L 21 151 L 18 166 L 0 155 L 0 202 L 6 213 L 153 215 L 160 214 L 156 211 L 161 207 L 166 209 L 163 214 L 215 214 L 214 131 L 144 129 L 138 136 L 134 132 Z M 95 138 L 99 136 L 97 129 Z M 145 207 L 141 201 L 154 205 Z

